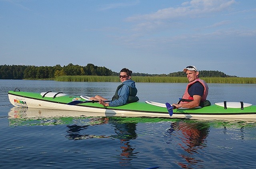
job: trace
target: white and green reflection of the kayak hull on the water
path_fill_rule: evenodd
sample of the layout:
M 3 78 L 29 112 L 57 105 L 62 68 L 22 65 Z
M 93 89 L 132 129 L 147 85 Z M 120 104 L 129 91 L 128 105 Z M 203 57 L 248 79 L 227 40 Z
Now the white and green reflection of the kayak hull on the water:
M 115 121 L 117 123 L 158 123 L 158 122 L 170 122 L 174 125 L 176 123 L 184 124 L 187 126 L 213 126 L 214 128 L 222 128 L 223 126 L 254 126 L 256 120 L 192 120 L 184 118 L 159 118 L 159 117 L 135 117 L 135 116 L 111 116 L 111 114 L 100 114 L 93 112 L 79 112 L 70 110 L 50 110 L 39 108 L 21 108 L 13 107 L 8 112 L 8 120 L 10 126 L 24 126 L 24 125 L 59 125 L 59 124 L 82 124 L 82 125 L 96 125 L 105 124 L 109 121 Z M 190 127 L 189 127 L 190 128 Z M 183 130 L 183 129 L 182 129 Z

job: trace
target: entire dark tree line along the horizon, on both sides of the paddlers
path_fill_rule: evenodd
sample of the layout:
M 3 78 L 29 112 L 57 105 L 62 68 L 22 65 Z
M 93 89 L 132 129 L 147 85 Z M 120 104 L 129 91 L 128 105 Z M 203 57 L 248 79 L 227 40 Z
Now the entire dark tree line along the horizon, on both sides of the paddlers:
M 199 71 L 200 77 L 235 77 L 219 71 Z M 64 75 L 94 75 L 94 76 L 117 76 L 119 72 L 111 71 L 106 67 L 98 67 L 92 63 L 86 66 L 32 66 L 32 65 L 0 65 L 0 79 L 54 79 Z M 170 76 L 185 77 L 184 72 L 166 74 L 132 73 L 132 76 Z

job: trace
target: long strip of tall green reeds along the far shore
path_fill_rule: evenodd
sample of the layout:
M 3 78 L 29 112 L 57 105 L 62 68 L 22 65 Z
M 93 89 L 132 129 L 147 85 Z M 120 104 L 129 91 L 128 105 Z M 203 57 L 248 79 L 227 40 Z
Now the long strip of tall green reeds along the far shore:
M 202 77 L 206 83 L 256 84 L 255 77 Z M 186 77 L 133 76 L 132 80 L 142 83 L 188 83 Z M 60 76 L 55 81 L 63 82 L 120 82 L 118 76 Z

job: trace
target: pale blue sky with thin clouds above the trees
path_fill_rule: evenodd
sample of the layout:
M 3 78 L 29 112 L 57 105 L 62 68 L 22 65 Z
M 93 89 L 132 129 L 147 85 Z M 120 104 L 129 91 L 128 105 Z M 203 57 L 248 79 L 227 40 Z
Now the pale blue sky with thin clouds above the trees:
M 256 77 L 255 0 L 0 0 L 0 65 Z

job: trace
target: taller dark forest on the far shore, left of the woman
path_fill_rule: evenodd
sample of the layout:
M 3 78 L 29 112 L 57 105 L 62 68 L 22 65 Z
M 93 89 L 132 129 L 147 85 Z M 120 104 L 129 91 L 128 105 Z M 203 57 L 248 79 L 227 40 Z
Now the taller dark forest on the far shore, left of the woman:
M 98 67 L 91 63 L 86 66 L 27 66 L 27 65 L 0 65 L 0 79 L 52 79 L 64 75 L 96 75 L 111 76 L 115 72 L 106 67 Z

